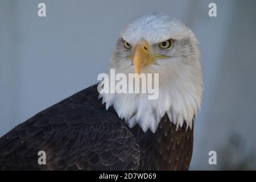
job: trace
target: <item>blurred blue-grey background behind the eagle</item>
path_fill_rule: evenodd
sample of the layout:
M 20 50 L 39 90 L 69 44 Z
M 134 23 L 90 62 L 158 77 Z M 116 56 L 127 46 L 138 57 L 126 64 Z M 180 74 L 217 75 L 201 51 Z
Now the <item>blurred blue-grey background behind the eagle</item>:
M 38 3 L 46 3 L 46 17 Z M 209 3 L 217 17 L 209 17 Z M 119 31 L 166 13 L 200 42 L 204 92 L 191 170 L 256 169 L 256 1 L 0 1 L 0 136 L 97 82 Z M 217 165 L 208 163 L 217 152 Z

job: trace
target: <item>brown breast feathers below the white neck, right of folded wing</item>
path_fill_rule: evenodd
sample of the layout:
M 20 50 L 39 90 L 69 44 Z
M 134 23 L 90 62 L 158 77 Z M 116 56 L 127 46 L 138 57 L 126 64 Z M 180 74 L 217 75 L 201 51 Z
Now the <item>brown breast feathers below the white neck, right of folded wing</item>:
M 193 150 L 193 130 L 179 127 L 164 115 L 155 133 L 131 129 L 141 150 L 140 170 L 187 170 Z

